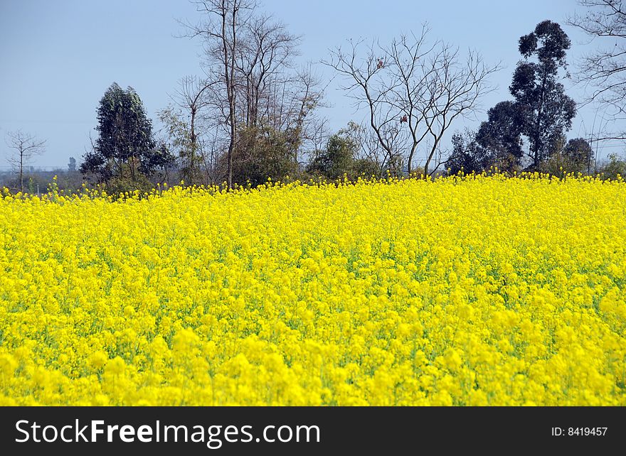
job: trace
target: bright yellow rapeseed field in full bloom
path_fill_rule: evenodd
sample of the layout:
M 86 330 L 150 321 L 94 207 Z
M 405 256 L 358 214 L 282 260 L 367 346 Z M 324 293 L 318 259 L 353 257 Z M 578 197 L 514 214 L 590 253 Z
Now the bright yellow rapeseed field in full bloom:
M 0 197 L 2 405 L 626 405 L 626 183 Z

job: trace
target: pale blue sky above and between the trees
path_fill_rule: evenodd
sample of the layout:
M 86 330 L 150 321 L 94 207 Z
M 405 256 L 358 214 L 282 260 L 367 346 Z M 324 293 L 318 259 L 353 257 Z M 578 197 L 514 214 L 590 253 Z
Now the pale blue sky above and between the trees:
M 587 38 L 565 24 L 577 8 L 573 0 L 265 0 L 261 8 L 304 37 L 302 63 L 319 62 L 349 38 L 385 42 L 427 21 L 431 38 L 479 50 L 488 63 L 502 60 L 504 69 L 492 78 L 499 89 L 484 99 L 485 109 L 510 98 L 517 40 L 540 21 L 561 23 L 573 42 L 572 63 L 590 50 L 581 44 Z M 96 136 L 97 104 L 114 81 L 137 90 L 157 126 L 156 112 L 169 103 L 177 81 L 201 74 L 198 43 L 175 38 L 181 33 L 176 18 L 197 17 L 186 0 L 0 0 L 0 169 L 8 166 L 4 134 L 14 129 L 48 141 L 35 165 L 65 168 L 70 156 L 80 162 L 89 135 Z M 321 65 L 318 71 L 325 80 L 332 76 Z M 568 93 L 582 95 L 575 87 Z M 324 115 L 334 129 L 361 119 L 336 83 L 327 89 L 327 102 Z M 590 134 L 594 114 L 580 109 L 568 136 Z M 448 140 L 464 126 L 452 126 Z M 621 149 L 610 146 L 601 154 L 610 151 Z

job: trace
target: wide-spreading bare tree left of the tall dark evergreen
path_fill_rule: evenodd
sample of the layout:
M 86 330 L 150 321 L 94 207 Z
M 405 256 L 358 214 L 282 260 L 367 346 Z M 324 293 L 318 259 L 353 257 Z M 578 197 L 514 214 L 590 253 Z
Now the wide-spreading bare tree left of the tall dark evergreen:
M 458 48 L 440 40 L 428 44 L 427 34 L 428 26 L 423 26 L 419 36 L 403 35 L 384 47 L 371 43 L 364 57 L 363 42 L 351 43 L 347 52 L 336 48 L 324 62 L 349 81 L 342 88 L 356 107 L 368 109 L 385 160 L 403 158 L 409 174 L 420 144 L 427 144 L 423 173 L 429 174 L 447 129 L 479 109 L 480 98 L 493 89 L 489 76 L 500 69 L 472 51 L 462 58 Z

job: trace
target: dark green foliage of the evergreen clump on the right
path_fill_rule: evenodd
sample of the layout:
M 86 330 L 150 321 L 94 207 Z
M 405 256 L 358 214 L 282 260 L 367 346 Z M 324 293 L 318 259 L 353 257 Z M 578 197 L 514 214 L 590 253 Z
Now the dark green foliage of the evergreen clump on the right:
M 562 143 L 576 113 L 575 102 L 557 79 L 559 68 L 566 67 L 570 46 L 561 26 L 551 21 L 539 23 L 519 38 L 524 60 L 517 64 L 509 87 L 514 102 L 499 102 L 489 109 L 489 119 L 482 122 L 473 140 L 461 136 L 453 140 L 448 161 L 453 173 L 491 167 L 509 173 L 519 170 L 523 137 L 528 139 L 531 169 L 558 174 L 561 168 L 582 171 L 588 166 L 591 150 L 584 140 L 572 140 L 566 147 Z M 533 57 L 535 62 L 529 60 Z

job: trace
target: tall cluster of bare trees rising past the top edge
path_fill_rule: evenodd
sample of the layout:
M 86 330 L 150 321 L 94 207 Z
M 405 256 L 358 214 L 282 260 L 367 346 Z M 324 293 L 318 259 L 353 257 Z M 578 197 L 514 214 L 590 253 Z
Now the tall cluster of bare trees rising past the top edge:
M 201 21 L 184 26 L 187 36 L 203 40 L 208 86 L 199 118 L 206 120 L 207 136 L 214 135 L 208 142 L 225 149 L 216 167 L 221 171 L 223 164 L 232 187 L 235 159 L 260 159 L 269 150 L 267 144 L 280 138 L 289 144 L 285 150 L 295 160 L 305 143 L 319 139 L 323 122 L 312 113 L 321 103 L 322 91 L 311 67 L 298 70 L 293 65 L 300 38 L 272 16 L 256 13 L 254 0 L 193 3 Z M 259 147 L 250 155 L 255 141 Z M 245 175 L 240 170 L 250 168 L 249 164 L 239 166 L 235 178 Z

